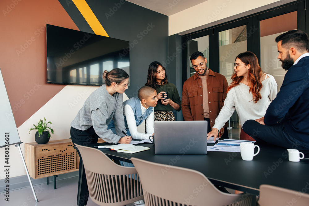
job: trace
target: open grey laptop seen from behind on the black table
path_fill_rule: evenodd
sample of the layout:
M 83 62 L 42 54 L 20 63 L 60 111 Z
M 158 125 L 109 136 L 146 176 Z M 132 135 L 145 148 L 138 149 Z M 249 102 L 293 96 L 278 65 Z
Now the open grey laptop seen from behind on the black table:
M 207 121 L 155 121 L 155 154 L 207 154 Z

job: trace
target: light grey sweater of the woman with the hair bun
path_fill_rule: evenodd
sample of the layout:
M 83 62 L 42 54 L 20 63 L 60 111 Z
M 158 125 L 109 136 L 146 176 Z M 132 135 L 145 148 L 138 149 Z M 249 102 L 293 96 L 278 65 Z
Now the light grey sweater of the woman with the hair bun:
M 71 127 L 82 131 L 93 126 L 95 133 L 104 141 L 117 143 L 125 135 L 125 120 L 123 116 L 123 94 L 108 94 L 106 84 L 100 86 L 86 99 L 83 107 L 78 111 Z M 108 124 L 114 120 L 116 134 L 107 129 Z

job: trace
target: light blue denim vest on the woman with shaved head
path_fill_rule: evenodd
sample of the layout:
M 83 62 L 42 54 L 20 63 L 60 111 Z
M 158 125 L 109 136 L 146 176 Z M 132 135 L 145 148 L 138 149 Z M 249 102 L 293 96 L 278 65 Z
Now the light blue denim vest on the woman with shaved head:
M 145 113 L 142 115 L 142 109 L 141 109 L 141 100 L 138 99 L 138 97 L 133 97 L 131 99 L 126 100 L 123 103 L 123 106 L 129 105 L 134 113 L 135 117 L 135 123 L 138 127 L 140 124 L 142 124 L 143 121 L 147 119 L 147 117 L 150 115 L 150 113 L 153 111 L 153 107 L 149 107 L 146 109 Z M 125 128 L 128 128 L 127 120 L 125 118 Z

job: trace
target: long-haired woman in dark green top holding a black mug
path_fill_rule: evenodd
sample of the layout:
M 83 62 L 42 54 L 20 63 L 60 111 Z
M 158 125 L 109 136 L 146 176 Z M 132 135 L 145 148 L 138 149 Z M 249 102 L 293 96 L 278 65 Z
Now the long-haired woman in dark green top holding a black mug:
M 177 88 L 174 84 L 167 81 L 165 68 L 158 61 L 154 61 L 149 65 L 146 86 L 151 86 L 157 90 L 158 104 L 154 113 L 155 121 L 175 121 L 173 110 L 181 110 L 181 100 Z M 162 93 L 168 93 L 168 99 L 162 97 Z M 165 95 L 166 96 L 166 95 Z

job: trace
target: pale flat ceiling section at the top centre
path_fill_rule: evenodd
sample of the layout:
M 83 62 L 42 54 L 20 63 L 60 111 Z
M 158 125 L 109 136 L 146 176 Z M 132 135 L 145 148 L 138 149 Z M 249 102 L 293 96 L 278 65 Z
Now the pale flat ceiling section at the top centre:
M 167 16 L 176 14 L 207 0 L 126 0 Z

